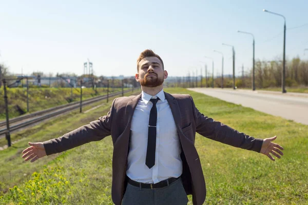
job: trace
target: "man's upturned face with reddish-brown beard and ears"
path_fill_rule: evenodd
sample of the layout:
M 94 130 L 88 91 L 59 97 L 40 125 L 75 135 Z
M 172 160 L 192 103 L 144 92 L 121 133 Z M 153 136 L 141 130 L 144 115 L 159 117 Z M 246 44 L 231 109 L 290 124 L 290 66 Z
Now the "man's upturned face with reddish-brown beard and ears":
M 135 78 L 141 86 L 157 87 L 164 83 L 167 71 L 163 70 L 162 62 L 157 57 L 146 57 L 139 62 L 139 70 Z

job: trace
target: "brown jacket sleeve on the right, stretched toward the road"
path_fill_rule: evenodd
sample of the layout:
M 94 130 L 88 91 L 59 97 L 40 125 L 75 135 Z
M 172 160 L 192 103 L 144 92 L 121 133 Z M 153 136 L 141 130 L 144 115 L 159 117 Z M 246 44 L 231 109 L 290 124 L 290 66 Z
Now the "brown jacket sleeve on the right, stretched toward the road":
M 196 132 L 204 137 L 222 142 L 233 147 L 260 152 L 263 139 L 254 138 L 237 130 L 204 116 L 196 108 L 194 100 L 191 98 L 192 110 L 196 122 Z

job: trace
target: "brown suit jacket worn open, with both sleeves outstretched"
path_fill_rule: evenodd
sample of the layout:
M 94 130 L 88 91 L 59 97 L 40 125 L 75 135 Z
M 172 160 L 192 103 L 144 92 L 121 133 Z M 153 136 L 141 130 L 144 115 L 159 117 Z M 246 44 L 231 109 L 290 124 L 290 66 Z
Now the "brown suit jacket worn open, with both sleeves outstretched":
M 182 180 L 187 195 L 192 194 L 194 204 L 201 205 L 206 196 L 204 176 L 200 158 L 195 148 L 195 135 L 199 134 L 234 147 L 260 152 L 263 139 L 238 131 L 201 114 L 190 95 L 168 94 L 165 97 L 175 119 L 182 146 Z M 130 125 L 134 109 L 141 94 L 119 97 L 113 100 L 107 115 L 90 124 L 71 131 L 62 137 L 44 142 L 47 155 L 63 152 L 90 141 L 98 141 L 111 134 L 112 200 L 120 205 L 126 190 L 127 156 L 129 152 Z

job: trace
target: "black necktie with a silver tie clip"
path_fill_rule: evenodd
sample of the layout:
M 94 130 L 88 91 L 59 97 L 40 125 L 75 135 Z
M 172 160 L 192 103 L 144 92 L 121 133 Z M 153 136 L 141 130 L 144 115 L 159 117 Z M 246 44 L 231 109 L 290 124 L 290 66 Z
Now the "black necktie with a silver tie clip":
M 150 99 L 153 106 L 150 111 L 150 119 L 148 126 L 148 146 L 146 150 L 145 165 L 151 169 L 155 165 L 155 150 L 156 150 L 156 122 L 157 122 L 157 110 L 156 104 L 159 98 Z

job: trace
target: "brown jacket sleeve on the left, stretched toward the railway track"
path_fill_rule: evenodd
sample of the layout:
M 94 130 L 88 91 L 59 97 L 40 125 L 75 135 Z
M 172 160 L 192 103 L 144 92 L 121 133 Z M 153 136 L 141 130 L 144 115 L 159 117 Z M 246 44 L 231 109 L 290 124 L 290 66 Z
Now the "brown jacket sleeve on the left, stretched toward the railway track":
M 63 152 L 90 141 L 99 141 L 111 134 L 112 114 L 114 112 L 115 98 L 107 115 L 98 120 L 91 121 L 90 124 L 75 129 L 62 137 L 44 141 L 44 147 L 47 155 Z

